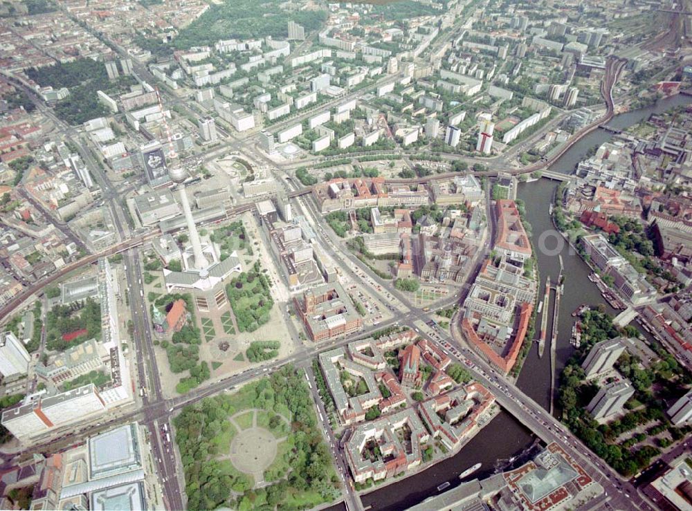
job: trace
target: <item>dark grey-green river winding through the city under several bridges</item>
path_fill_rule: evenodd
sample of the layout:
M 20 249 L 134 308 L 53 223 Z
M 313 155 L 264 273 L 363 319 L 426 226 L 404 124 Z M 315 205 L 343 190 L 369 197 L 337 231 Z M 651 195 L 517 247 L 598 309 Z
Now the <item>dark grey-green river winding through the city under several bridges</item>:
M 644 109 L 616 115 L 610 120 L 608 126 L 615 129 L 625 129 L 648 118 L 652 113 L 660 113 L 690 102 L 692 102 L 692 97 L 675 95 Z M 592 131 L 592 133 L 572 146 L 561 158 L 556 160 L 549 167 L 549 170 L 571 174 L 588 151 L 593 147 L 599 147 L 604 142 L 608 142 L 612 136 L 612 133 L 603 129 Z M 579 257 L 579 254 L 574 253 L 566 243 L 563 243 L 561 250 L 554 250 L 557 244 L 561 243 L 561 236 L 549 236 L 545 239 L 545 243 L 540 241 L 541 233 L 554 229 L 548 208 L 557 186 L 558 183 L 556 181 L 544 178 L 533 183 L 521 183 L 518 188 L 518 198 L 525 202 L 527 220 L 533 227 L 532 241 L 536 249 L 536 259 L 541 280 L 538 295 L 541 297 L 540 299 L 543 299 L 545 277 L 550 275 L 552 282 L 555 282 L 558 278 L 560 271 L 558 254 L 561 254 L 563 259 L 565 293 L 561 297 L 560 317 L 558 320 L 556 380 L 574 351 L 570 345 L 572 324 L 574 324 L 572 312 L 583 303 L 592 306 L 604 304 L 603 297 L 601 297 L 598 289 L 588 279 L 590 270 L 581 257 Z M 547 250 L 538 250 L 541 245 L 545 246 Z M 551 299 L 552 301 L 553 299 Z M 605 306 L 610 313 L 614 312 L 608 304 L 605 304 Z M 550 306 L 544 304 L 544 310 L 547 310 L 552 315 L 552 304 Z M 552 322 L 552 317 L 550 319 Z M 536 320 L 536 325 L 536 328 L 540 328 L 540 315 Z M 534 343 L 531 352 L 525 360 L 517 380 L 517 385 L 528 396 L 536 400 L 538 404 L 545 407 L 545 409 L 549 409 L 550 354 L 546 345 L 543 357 L 539 358 L 536 344 Z M 557 387 L 557 381 L 555 385 Z M 363 495 L 361 497 L 363 505 L 365 508 L 370 505 L 374 510 L 385 511 L 408 508 L 432 494 L 437 494 L 437 486 L 444 483 L 444 481 L 450 481 L 452 483 L 450 487 L 459 485 L 458 474 L 475 463 L 482 463 L 482 467 L 468 479 L 482 479 L 484 476 L 491 474 L 495 467 L 506 465 L 509 458 L 525 452 L 534 440 L 535 437 L 530 431 L 503 410 L 455 456 L 441 461 L 415 476 L 407 477 L 402 481 Z M 518 463 L 522 463 L 521 458 L 514 460 L 513 464 L 517 465 Z

